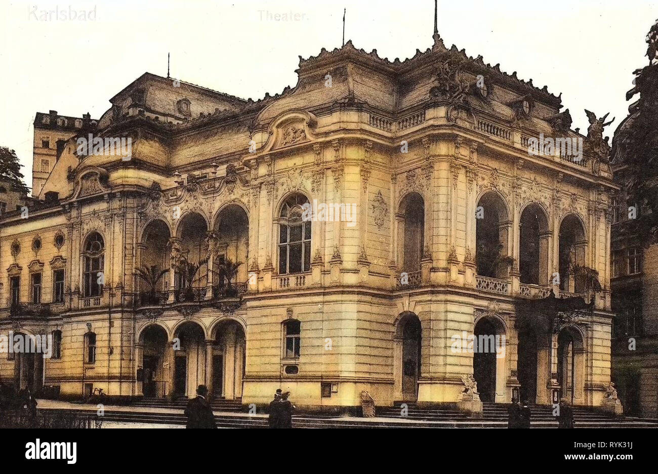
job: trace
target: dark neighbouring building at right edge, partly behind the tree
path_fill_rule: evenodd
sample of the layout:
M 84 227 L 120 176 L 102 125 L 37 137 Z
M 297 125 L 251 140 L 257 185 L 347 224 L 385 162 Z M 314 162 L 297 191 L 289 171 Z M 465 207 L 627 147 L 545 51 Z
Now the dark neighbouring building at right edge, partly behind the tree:
M 633 126 L 636 104 L 615 131 L 615 143 Z M 613 289 L 613 381 L 624 412 L 658 417 L 658 245 L 644 247 L 632 229 L 639 206 L 628 206 L 624 156 L 616 147 L 615 181 L 622 187 L 615 198 L 612 227 L 611 285 Z

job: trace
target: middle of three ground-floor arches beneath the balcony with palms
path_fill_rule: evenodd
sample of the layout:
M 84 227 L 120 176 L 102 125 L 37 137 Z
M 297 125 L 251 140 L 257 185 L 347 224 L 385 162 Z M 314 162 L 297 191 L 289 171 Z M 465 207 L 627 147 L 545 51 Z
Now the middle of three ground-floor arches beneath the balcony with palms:
M 182 323 L 174 333 L 174 397 L 194 396 L 197 387 L 205 385 L 205 358 L 203 329 L 194 321 Z

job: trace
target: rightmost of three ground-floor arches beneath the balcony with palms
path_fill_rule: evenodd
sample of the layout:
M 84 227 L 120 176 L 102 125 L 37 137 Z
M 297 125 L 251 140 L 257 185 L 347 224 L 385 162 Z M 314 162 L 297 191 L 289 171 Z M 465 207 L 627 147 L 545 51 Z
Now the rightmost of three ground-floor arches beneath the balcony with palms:
M 233 319 L 220 320 L 211 331 L 209 379 L 214 398 L 236 400 L 242 397 L 247 339 L 242 325 Z

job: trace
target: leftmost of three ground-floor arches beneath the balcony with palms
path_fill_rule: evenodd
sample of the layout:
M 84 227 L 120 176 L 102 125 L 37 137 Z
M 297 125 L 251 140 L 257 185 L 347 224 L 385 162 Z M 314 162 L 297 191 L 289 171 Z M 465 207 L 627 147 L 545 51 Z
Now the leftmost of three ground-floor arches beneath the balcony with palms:
M 164 370 L 166 343 L 166 331 L 157 324 L 149 325 L 139 336 L 142 371 L 138 382 L 141 382 L 141 392 L 147 398 L 164 398 L 167 394 L 168 373 Z

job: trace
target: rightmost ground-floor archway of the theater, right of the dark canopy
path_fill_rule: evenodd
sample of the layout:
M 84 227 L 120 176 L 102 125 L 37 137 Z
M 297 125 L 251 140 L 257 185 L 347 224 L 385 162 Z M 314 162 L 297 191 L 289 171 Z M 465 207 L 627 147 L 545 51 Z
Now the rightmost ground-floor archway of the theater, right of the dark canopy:
M 574 326 L 557 335 L 557 383 L 560 398 L 572 405 L 584 404 L 585 347 L 582 333 Z

